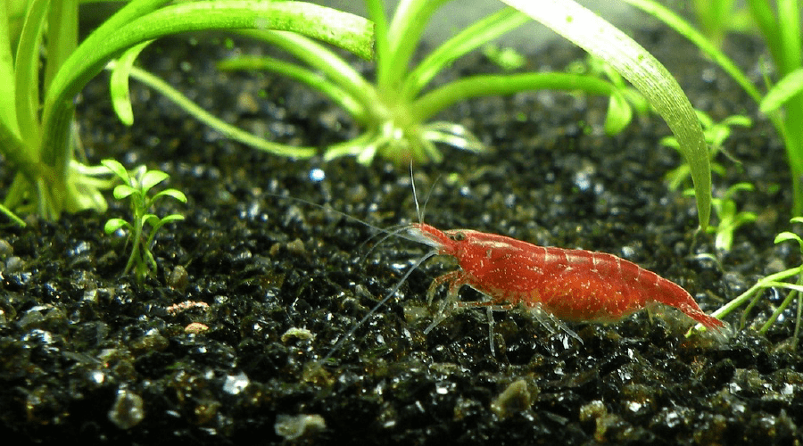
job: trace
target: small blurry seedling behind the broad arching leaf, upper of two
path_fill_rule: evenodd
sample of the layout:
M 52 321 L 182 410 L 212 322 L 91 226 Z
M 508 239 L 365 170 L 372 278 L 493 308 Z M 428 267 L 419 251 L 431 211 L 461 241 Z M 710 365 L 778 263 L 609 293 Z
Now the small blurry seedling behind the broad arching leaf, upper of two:
M 719 122 L 715 122 L 705 111 L 695 111 L 697 112 L 698 119 L 700 119 L 700 125 L 702 125 L 703 128 L 703 136 L 705 136 L 706 143 L 708 144 L 708 160 L 710 161 L 711 171 L 718 175 L 724 175 L 724 166 L 714 161 L 716 154 L 724 153 L 727 155 L 723 149 L 723 145 L 725 140 L 731 136 L 733 126 L 748 128 L 753 125 L 753 121 L 744 115 L 733 115 Z M 678 145 L 675 136 L 665 136 L 661 138 L 660 143 L 661 145 L 680 150 L 680 145 Z M 733 157 L 729 158 L 733 160 Z M 689 178 L 691 178 L 691 167 L 687 163 L 683 163 L 666 174 L 666 183 L 670 189 L 678 190 Z

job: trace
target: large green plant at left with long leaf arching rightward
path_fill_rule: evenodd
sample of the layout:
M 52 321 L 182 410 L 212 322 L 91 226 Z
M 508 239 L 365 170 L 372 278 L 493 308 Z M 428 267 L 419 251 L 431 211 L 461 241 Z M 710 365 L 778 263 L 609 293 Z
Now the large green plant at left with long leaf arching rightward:
M 281 29 L 370 54 L 372 28 L 361 17 L 300 2 L 130 0 L 79 41 L 79 0 L 5 0 L 0 154 L 15 176 L 4 207 L 46 219 L 62 211 L 105 210 L 104 182 L 95 168 L 73 159 L 79 152 L 75 97 L 129 48 L 187 31 Z

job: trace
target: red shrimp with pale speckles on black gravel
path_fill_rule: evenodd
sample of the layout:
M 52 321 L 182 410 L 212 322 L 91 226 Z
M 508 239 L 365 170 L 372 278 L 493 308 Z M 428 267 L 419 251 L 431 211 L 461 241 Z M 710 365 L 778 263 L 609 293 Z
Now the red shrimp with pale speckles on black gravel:
M 448 286 L 439 314 L 426 333 L 455 307 L 486 307 L 489 323 L 493 323 L 491 310 L 509 310 L 520 304 L 534 310 L 551 330 L 552 324 L 543 318 L 551 319 L 580 342 L 580 337 L 560 321 L 615 322 L 656 302 L 683 311 L 709 329 L 724 326 L 700 310 L 680 285 L 612 254 L 538 246 L 468 229 L 441 231 L 426 223 L 410 225 L 407 233 L 459 263 L 458 270 L 435 278 L 429 287 L 427 299 L 431 303 L 437 289 Z M 458 301 L 463 285 L 484 293 L 489 300 Z

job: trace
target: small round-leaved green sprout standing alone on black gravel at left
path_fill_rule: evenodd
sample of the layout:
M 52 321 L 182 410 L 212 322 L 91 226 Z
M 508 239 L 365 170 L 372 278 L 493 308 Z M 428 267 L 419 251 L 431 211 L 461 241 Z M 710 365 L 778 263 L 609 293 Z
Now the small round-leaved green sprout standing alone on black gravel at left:
M 186 202 L 186 195 L 176 189 L 164 189 L 149 196 L 148 193 L 153 186 L 170 178 L 161 170 L 147 170 L 145 166 L 140 166 L 133 172 L 133 175 L 130 175 L 118 161 L 103 160 L 101 163 L 123 181 L 123 184 L 114 187 L 114 198 L 117 200 L 128 198 L 134 214 L 131 222 L 124 219 L 109 219 L 103 230 L 108 235 L 112 235 L 122 228 L 128 231 L 132 248 L 131 256 L 128 257 L 128 263 L 123 270 L 123 276 L 128 274 L 131 268 L 134 268 L 137 282 L 142 283 L 146 276 L 156 272 L 156 260 L 153 259 L 153 253 L 151 253 L 156 232 L 166 223 L 184 219 L 178 214 L 170 214 L 160 219 L 156 214 L 149 212 L 153 203 L 165 196 L 175 198 L 179 202 Z

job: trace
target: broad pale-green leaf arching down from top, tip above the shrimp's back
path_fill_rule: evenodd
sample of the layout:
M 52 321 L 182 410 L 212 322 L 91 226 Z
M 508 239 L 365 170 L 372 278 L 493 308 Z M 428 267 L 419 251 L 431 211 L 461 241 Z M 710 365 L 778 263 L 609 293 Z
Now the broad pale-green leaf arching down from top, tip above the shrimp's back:
M 711 213 L 711 169 L 700 120 L 669 71 L 632 38 L 571 0 L 502 0 L 608 62 L 666 120 L 689 162 L 700 227 Z

